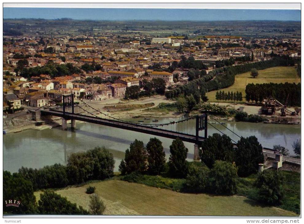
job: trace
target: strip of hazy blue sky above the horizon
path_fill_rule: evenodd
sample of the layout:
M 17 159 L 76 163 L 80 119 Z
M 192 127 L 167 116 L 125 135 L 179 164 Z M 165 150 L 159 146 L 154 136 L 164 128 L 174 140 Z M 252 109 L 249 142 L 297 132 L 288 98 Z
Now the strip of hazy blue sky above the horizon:
M 301 21 L 301 10 L 261 9 L 117 9 L 117 8 L 3 8 L 3 18 L 71 18 L 78 20 Z

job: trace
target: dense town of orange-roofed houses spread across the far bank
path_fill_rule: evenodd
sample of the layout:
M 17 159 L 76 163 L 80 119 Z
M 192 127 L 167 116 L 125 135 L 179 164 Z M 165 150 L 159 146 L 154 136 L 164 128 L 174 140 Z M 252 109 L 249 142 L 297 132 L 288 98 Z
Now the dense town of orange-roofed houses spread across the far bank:
M 133 40 L 121 41 L 122 37 L 132 37 Z M 193 56 L 212 70 L 216 61 L 231 57 L 253 56 L 253 61 L 263 61 L 270 59 L 271 53 L 286 54 L 290 57 L 301 55 L 301 40 L 298 39 L 255 39 L 254 43 L 262 45 L 263 48 L 250 49 L 246 45 L 253 44 L 251 39 L 236 36 L 151 37 L 149 34 L 140 33 L 130 36 L 105 32 L 102 35 L 73 38 L 64 34 L 52 37 L 38 37 L 34 34 L 13 38 L 4 36 L 3 42 L 3 110 L 12 107 L 18 109 L 22 104 L 41 107 L 51 98 L 70 93 L 90 100 L 123 97 L 127 87 L 138 85 L 142 88 L 144 79 L 149 81 L 161 78 L 167 86 L 185 83 L 187 71 L 183 69 L 176 69 L 173 73 L 149 69 L 156 64 L 166 69 L 173 62 L 179 62 L 181 56 Z M 277 46 L 278 43 L 286 42 L 293 50 L 286 45 Z M 239 47 L 225 47 L 231 44 L 238 44 Z M 26 57 L 18 58 L 16 55 Z M 27 60 L 25 67 L 29 68 L 44 66 L 49 61 L 58 64 L 71 63 L 80 69 L 80 74 L 62 77 L 40 74 L 26 79 L 20 76 L 20 72 L 15 72 L 18 61 L 24 59 Z M 85 71 L 81 69 L 85 64 L 98 64 L 100 69 Z M 180 77 L 178 83 L 174 82 L 173 74 Z M 102 84 L 85 82 L 87 78 L 96 76 L 101 79 L 117 77 L 117 80 L 115 83 Z

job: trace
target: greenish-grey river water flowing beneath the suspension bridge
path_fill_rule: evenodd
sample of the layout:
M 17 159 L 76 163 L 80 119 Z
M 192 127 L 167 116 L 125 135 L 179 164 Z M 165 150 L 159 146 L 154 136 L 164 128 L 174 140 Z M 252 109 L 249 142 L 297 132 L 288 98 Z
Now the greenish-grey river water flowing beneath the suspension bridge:
M 158 123 L 170 123 L 170 121 L 183 120 L 173 118 L 157 118 Z M 138 121 L 141 119 L 129 119 L 129 121 Z M 211 121 L 209 121 L 211 122 Z M 300 139 L 300 125 L 283 124 L 262 124 L 247 122 L 227 122 L 225 126 L 231 129 L 239 136 L 254 135 L 258 138 L 263 147 L 272 148 L 275 144 L 280 144 L 289 149 L 290 155 L 294 155 L 292 144 Z M 144 120 L 145 124 L 157 124 L 151 120 Z M 189 126 L 180 125 L 178 128 L 194 133 L 195 122 L 189 122 Z M 212 124 L 221 132 L 230 136 L 233 140 L 239 138 L 228 131 L 220 124 Z M 69 125 L 68 125 L 69 126 Z M 141 140 L 146 144 L 153 136 L 127 131 L 118 128 L 106 127 L 98 124 L 81 123 L 77 124 L 76 130 L 63 131 L 58 128 L 47 128 L 44 130 L 28 129 L 18 133 L 9 133 L 3 135 L 3 169 L 10 172 L 17 172 L 20 167 L 41 168 L 54 163 L 66 164 L 68 155 L 74 152 L 80 152 L 92 149 L 97 146 L 104 146 L 111 151 L 115 159 L 115 171 L 121 159 L 124 158 L 124 152 L 135 139 Z M 215 128 L 208 125 L 208 135 L 218 133 Z M 203 135 L 200 132 L 200 135 Z M 169 158 L 169 146 L 172 139 L 158 137 L 165 148 L 166 158 Z M 193 159 L 193 143 L 185 142 L 189 149 L 188 159 Z

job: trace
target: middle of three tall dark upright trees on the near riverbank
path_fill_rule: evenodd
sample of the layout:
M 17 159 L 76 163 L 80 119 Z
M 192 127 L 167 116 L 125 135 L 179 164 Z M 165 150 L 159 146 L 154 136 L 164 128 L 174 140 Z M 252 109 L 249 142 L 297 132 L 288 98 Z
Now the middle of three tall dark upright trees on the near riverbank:
M 166 163 L 166 153 L 162 142 L 157 138 L 150 138 L 146 149 L 148 152 L 148 171 L 152 174 L 159 175 Z

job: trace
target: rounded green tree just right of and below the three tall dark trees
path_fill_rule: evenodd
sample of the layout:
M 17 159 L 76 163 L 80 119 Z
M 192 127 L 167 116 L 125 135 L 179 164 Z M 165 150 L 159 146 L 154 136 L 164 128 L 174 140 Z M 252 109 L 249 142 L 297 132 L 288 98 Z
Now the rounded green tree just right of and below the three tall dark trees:
M 192 193 L 206 192 L 208 189 L 209 172 L 209 168 L 203 163 L 190 163 L 183 191 Z

